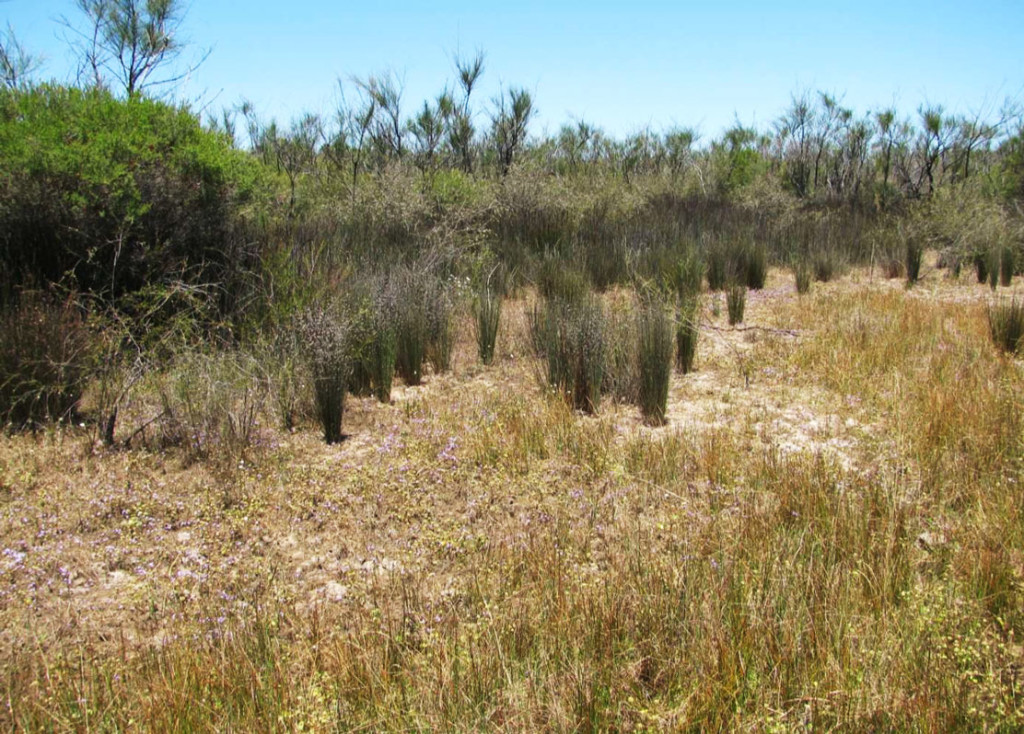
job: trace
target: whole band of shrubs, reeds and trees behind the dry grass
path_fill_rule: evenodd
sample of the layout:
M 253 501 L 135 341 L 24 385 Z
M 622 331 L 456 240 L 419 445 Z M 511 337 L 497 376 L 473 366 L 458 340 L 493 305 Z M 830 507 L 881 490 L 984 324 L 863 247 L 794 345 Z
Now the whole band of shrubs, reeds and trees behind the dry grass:
M 544 137 L 530 132 L 528 91 L 479 99 L 478 55 L 412 114 L 380 75 L 343 84 L 331 118 L 281 126 L 243 103 L 201 120 L 150 93 L 176 48 L 167 18 L 134 0 L 95 10 L 93 74 L 78 85 L 34 83 L 24 51 L 0 39 L 9 426 L 71 415 L 98 385 L 92 416 L 114 443 L 143 375 L 198 379 L 213 372 L 197 364 L 228 355 L 223 384 L 240 392 L 209 411 L 188 402 L 195 386 L 162 393 L 153 420 L 166 436 L 239 439 L 224 411 L 269 391 L 289 428 L 297 405 L 323 403 L 337 440 L 346 391 L 387 399 L 392 375 L 415 384 L 424 365 L 450 369 L 460 314 L 473 311 L 493 358 L 501 299 L 524 286 L 547 304 L 532 336 L 553 386 L 585 409 L 602 390 L 646 404 L 640 386 L 667 384 L 666 313 L 680 369 L 692 363 L 686 325 L 706 284 L 741 319 L 744 289 L 770 265 L 792 267 L 804 291 L 857 262 L 913 283 L 927 248 L 993 288 L 1024 263 L 1024 128 L 1010 104 L 901 120 L 805 94 L 764 130 L 710 140 L 689 129 L 616 139 L 583 121 Z M 636 295 L 635 334 L 605 335 L 590 298 L 616 286 Z M 655 381 L 634 363 L 647 347 Z M 198 426 L 208 414 L 219 427 Z M 125 430 L 122 442 L 138 429 Z

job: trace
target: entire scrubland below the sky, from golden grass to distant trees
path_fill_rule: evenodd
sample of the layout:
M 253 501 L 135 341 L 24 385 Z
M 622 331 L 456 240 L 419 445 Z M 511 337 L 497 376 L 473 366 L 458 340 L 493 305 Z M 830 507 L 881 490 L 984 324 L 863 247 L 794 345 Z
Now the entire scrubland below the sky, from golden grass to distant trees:
M 1024 728 L 1012 107 L 542 139 L 480 57 L 281 128 L 12 49 L 5 728 Z

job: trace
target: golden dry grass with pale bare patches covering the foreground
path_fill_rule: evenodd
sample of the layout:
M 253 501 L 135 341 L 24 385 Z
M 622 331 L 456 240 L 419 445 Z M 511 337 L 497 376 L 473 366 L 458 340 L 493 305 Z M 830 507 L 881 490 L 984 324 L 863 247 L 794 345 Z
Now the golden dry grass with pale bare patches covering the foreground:
M 1024 373 L 970 280 L 771 270 L 659 428 L 546 394 L 509 301 L 338 445 L 4 438 L 0 721 L 1019 730 Z

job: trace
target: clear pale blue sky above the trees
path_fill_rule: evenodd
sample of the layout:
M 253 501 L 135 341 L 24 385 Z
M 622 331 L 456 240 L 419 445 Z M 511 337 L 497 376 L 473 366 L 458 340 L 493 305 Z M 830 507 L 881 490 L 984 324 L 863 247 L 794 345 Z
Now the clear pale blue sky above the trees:
M 454 53 L 477 49 L 478 109 L 501 84 L 524 86 L 536 133 L 584 118 L 614 135 L 685 125 L 707 139 L 737 117 L 764 127 L 802 90 L 907 115 L 923 102 L 994 112 L 1024 98 L 1024 0 L 185 5 L 187 51 L 211 53 L 177 96 L 214 112 L 248 98 L 282 123 L 330 113 L 339 77 L 386 70 L 404 80 L 412 113 L 454 79 Z M 44 78 L 73 67 L 60 16 L 80 19 L 74 0 L 0 1 L 0 24 L 45 57 Z

